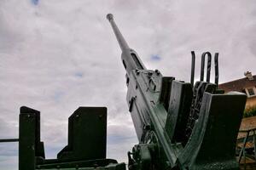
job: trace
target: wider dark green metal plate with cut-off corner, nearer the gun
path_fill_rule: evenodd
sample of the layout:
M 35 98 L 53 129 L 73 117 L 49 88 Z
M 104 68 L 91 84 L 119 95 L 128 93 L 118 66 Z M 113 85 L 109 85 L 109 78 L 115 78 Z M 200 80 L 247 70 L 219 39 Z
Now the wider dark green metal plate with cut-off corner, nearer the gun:
M 89 160 L 106 158 L 107 108 L 79 107 L 68 118 L 68 144 L 57 158 Z

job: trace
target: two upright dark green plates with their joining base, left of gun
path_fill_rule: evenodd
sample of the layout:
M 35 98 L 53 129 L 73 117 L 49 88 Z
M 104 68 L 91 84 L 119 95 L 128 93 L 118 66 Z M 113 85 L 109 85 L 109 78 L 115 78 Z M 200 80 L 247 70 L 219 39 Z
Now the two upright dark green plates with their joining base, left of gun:
M 57 159 L 45 159 L 40 141 L 40 112 L 20 108 L 19 169 L 124 170 L 125 163 L 106 159 L 107 108 L 79 107 L 68 119 L 68 143 Z

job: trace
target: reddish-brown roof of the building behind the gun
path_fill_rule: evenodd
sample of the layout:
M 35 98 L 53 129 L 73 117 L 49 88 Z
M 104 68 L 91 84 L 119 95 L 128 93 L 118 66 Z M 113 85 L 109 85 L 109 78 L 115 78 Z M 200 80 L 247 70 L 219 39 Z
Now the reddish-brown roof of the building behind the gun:
M 224 89 L 225 92 L 238 91 L 242 92 L 244 88 L 250 88 L 256 86 L 256 75 L 253 76 L 253 80 L 249 80 L 247 77 L 234 80 L 231 82 L 225 82 L 219 84 L 218 88 Z

